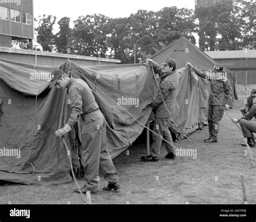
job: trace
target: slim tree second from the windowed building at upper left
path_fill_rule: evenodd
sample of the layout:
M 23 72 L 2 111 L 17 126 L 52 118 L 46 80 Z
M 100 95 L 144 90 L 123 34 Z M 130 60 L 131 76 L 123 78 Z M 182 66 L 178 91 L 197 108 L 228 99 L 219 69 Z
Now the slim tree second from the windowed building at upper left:
M 58 22 L 59 32 L 55 35 L 55 45 L 59 53 L 70 53 L 73 54 L 71 48 L 72 29 L 70 28 L 70 18 L 63 17 Z

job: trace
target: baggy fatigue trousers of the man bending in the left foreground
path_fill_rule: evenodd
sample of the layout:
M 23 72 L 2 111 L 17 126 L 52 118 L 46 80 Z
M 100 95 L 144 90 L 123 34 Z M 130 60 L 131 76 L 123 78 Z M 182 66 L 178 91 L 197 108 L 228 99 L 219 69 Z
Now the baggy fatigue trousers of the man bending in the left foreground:
M 117 172 L 107 148 L 106 123 L 104 120 L 100 111 L 83 117 L 80 157 L 84 167 L 85 185 L 92 191 L 96 191 L 98 188 L 99 170 L 109 183 L 118 182 Z

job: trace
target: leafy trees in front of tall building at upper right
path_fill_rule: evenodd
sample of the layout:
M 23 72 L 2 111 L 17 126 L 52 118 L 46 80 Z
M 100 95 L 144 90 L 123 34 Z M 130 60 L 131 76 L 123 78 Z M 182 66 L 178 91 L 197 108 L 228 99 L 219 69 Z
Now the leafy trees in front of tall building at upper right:
M 250 2 L 237 0 L 196 10 L 200 49 L 241 50 L 253 48 L 255 10 Z

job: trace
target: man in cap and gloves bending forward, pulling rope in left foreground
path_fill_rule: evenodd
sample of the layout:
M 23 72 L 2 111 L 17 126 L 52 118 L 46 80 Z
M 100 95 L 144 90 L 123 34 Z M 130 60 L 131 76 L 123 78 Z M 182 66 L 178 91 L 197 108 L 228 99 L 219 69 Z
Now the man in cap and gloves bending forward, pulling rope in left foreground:
M 68 89 L 68 98 L 72 108 L 69 120 L 63 129 L 56 131 L 56 136 L 61 138 L 71 130 L 79 116 L 82 120 L 80 147 L 81 162 L 85 172 L 85 185 L 82 192 L 98 192 L 99 170 L 109 184 L 103 188 L 105 191 L 118 191 L 119 179 L 114 168 L 110 153 L 107 148 L 106 123 L 103 114 L 95 101 L 91 89 L 81 79 L 69 78 L 62 70 L 52 72 L 50 88 Z M 75 190 L 79 193 L 79 190 Z

